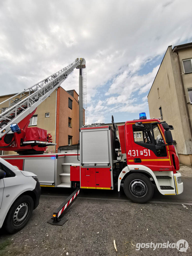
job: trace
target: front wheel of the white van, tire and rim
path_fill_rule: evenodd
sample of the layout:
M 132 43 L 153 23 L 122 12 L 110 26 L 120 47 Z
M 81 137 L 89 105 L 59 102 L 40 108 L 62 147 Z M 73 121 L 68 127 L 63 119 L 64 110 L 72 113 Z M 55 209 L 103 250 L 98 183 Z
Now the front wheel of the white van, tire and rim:
M 31 217 L 33 205 L 33 199 L 30 196 L 20 196 L 7 213 L 3 225 L 5 230 L 11 234 L 21 230 Z

